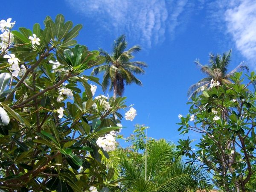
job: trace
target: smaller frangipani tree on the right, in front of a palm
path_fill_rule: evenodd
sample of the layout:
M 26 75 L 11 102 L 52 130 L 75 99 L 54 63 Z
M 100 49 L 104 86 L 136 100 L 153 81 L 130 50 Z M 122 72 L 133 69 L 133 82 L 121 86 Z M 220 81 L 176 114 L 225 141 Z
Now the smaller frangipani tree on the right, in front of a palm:
M 200 96 L 192 97 L 189 114 L 181 117 L 178 131 L 201 134 L 196 145 L 198 151 L 192 151 L 193 140 L 179 141 L 178 148 L 192 162 L 200 162 L 209 172 L 218 178 L 220 186 L 230 191 L 232 184 L 245 191 L 245 184 L 255 171 L 251 160 L 256 155 L 255 116 L 256 97 L 249 90 L 256 75 L 247 76 L 248 84 L 241 84 L 242 73 L 230 76 L 234 84 L 223 84 L 204 90 Z M 247 174 L 245 174 L 247 173 Z

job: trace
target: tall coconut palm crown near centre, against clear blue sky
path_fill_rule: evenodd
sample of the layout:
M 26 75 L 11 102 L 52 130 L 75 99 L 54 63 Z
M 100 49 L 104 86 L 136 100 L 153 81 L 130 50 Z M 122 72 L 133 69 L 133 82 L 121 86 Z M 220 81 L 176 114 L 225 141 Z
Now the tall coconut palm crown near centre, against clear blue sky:
M 134 58 L 132 54 L 141 50 L 140 46 L 135 45 L 127 51 L 125 50 L 126 48 L 127 41 L 125 41 L 125 35 L 122 35 L 114 41 L 110 55 L 108 52 L 100 49 L 101 55 L 106 58 L 105 64 L 95 67 L 91 73 L 91 75 L 104 73 L 102 90 L 105 92 L 110 86 L 109 90 L 113 90 L 114 99 L 116 99 L 116 96 L 122 96 L 125 91 L 125 84 L 136 83 L 143 86 L 133 73 L 136 75 L 144 74 L 143 68 L 148 67 L 144 62 L 131 61 Z

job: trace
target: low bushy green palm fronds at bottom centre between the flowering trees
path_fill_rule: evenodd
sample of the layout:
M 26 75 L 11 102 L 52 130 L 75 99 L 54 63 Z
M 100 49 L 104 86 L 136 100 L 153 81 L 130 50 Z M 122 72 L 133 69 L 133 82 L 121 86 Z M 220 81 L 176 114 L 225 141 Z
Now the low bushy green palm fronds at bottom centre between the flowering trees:
M 197 165 L 182 163 L 175 156 L 175 144 L 158 140 L 148 145 L 147 166 L 145 155 L 142 160 L 129 159 L 127 154 L 120 154 L 120 164 L 127 192 L 187 192 L 210 189 L 210 178 Z M 135 166 L 134 166 L 135 165 Z M 145 180 L 145 167 L 146 180 Z

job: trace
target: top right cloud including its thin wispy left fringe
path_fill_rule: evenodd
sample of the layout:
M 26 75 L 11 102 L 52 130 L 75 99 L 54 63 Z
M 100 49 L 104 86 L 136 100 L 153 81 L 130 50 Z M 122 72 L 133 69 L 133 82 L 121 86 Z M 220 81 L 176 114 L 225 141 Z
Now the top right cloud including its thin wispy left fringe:
M 256 67 L 256 1 L 215 0 L 206 3 L 210 13 L 207 18 L 217 32 L 216 36 L 221 36 L 221 44 L 226 47 L 235 44 L 248 63 Z

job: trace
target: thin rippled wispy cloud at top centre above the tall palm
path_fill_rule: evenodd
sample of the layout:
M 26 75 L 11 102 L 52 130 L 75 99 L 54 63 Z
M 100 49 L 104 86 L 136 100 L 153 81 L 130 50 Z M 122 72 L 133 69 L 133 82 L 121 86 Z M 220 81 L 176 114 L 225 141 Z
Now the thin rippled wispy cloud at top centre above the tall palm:
M 109 32 L 140 39 L 151 47 L 163 42 L 165 34 L 173 34 L 180 25 L 179 16 L 188 0 L 72 0 L 68 1 L 86 17 L 94 17 Z

